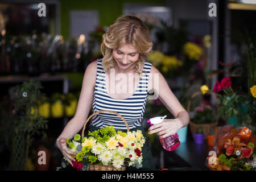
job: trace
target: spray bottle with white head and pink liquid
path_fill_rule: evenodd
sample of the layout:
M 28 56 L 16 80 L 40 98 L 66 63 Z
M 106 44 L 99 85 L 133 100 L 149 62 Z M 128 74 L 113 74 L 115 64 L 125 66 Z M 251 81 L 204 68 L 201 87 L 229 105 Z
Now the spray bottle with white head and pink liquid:
M 164 117 L 150 118 L 147 120 L 147 123 L 150 123 L 150 125 L 152 126 L 160 122 L 163 122 L 164 118 L 166 118 L 166 115 L 164 115 Z M 174 135 L 170 135 L 166 138 L 160 138 L 160 143 L 162 144 L 165 150 L 173 151 L 180 146 L 180 138 L 179 135 L 175 133 Z

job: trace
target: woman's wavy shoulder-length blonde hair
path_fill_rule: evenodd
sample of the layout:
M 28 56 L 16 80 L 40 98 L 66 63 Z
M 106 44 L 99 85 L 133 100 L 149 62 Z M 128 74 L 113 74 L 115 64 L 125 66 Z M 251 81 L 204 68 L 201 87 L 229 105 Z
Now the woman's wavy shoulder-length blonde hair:
M 141 19 L 132 15 L 123 15 L 115 20 L 114 24 L 102 36 L 101 53 L 104 56 L 102 67 L 106 72 L 115 68 L 117 63 L 112 51 L 122 44 L 131 44 L 139 51 L 138 60 L 127 69 L 135 68 L 135 73 L 141 77 L 144 60 L 150 55 L 153 45 L 149 31 Z

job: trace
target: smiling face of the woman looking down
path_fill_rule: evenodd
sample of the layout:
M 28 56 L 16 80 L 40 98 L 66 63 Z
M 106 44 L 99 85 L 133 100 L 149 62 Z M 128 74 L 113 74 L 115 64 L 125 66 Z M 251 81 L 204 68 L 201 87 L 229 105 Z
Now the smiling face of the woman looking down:
M 123 44 L 113 49 L 112 55 L 120 69 L 126 69 L 139 59 L 139 51 L 131 44 Z

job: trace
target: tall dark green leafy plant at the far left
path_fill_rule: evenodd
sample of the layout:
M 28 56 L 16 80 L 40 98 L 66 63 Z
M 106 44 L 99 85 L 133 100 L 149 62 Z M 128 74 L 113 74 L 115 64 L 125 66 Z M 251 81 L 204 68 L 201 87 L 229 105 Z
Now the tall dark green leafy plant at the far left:
M 20 160 L 25 164 L 28 158 L 28 149 L 30 148 L 35 136 L 42 136 L 42 139 L 47 138 L 45 130 L 47 129 L 47 120 L 39 115 L 38 101 L 42 101 L 43 94 L 40 92 L 42 88 L 39 81 L 23 82 L 22 85 L 17 85 L 11 89 L 14 94 L 14 110 L 15 121 L 13 121 L 13 131 L 16 133 L 12 140 L 11 160 Z M 20 151 L 19 143 L 15 143 L 18 138 L 23 137 L 25 146 Z M 16 155 L 16 154 L 25 155 Z M 11 169 L 16 169 L 13 162 L 10 163 Z M 24 166 L 23 164 L 23 166 Z M 24 169 L 24 167 L 23 167 Z

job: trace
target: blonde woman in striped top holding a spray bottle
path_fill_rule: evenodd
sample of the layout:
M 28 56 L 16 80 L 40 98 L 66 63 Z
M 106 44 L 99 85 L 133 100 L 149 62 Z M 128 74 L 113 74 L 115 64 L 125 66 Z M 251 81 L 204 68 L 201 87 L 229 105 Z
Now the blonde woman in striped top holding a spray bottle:
M 71 165 L 71 161 L 75 161 L 71 155 L 75 153 L 68 150 L 65 139 L 79 133 L 92 105 L 93 113 L 97 110 L 117 111 L 125 118 L 131 131 L 139 129 L 146 136 L 141 121 L 146 100 L 151 97 L 147 92 L 154 90 L 154 97 L 163 102 L 175 119 L 164 119 L 164 122 L 151 126 L 148 134 L 158 133 L 160 138 L 165 138 L 189 122 L 187 111 L 172 93 L 162 74 L 145 60 L 151 52 L 152 43 L 146 26 L 139 18 L 121 16 L 102 38 L 101 52 L 104 57 L 93 61 L 86 68 L 76 114 L 56 141 Z M 121 118 L 106 112 L 92 117 L 89 131 L 110 125 L 116 130 L 126 130 Z M 142 148 L 142 154 L 143 168 L 154 169 L 148 140 Z

